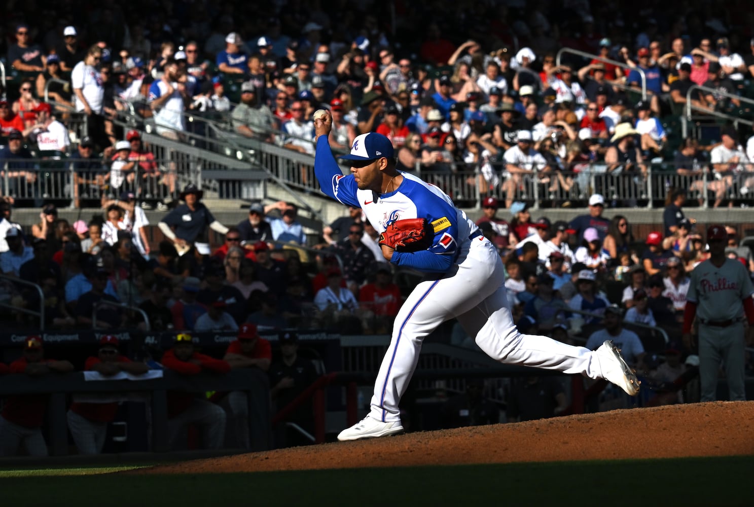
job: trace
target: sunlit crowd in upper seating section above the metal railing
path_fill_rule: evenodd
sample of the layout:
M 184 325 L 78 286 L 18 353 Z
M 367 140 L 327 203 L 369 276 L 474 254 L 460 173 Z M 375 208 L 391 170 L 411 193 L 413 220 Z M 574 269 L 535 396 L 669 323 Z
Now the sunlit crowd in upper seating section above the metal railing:
M 293 3 L 255 6 L 248 17 L 238 14 L 250 8 L 234 2 L 149 8 L 143 17 L 139 2 L 84 12 L 72 2 L 55 5 L 42 23 L 26 22 L 33 18 L 19 6 L 4 20 L 12 79 L 0 105 L 8 143 L 0 159 L 28 157 L 26 145 L 37 157 L 63 153 L 91 165 L 81 145 L 104 161 L 101 174 L 82 180 L 117 193 L 141 177 L 152 184 L 140 200 L 167 207 L 163 197 L 177 192 L 161 174 L 169 169 L 142 158 L 115 163 L 121 149 L 134 161 L 146 147 L 127 148 L 113 118 L 151 121 L 173 140 L 192 128 L 185 113 L 225 118 L 238 137 L 313 154 L 311 115 L 326 108 L 336 149 L 379 131 L 404 170 L 437 178 L 477 173 L 483 197 L 504 195 L 506 207 L 525 183 L 559 196 L 553 205 L 592 191 L 635 205 L 625 196 L 642 197 L 652 167 L 670 168 L 697 198 L 706 188 L 714 206 L 738 204 L 754 186 L 751 131 L 729 124 L 752 118 L 745 100 L 754 96 L 754 44 L 746 45 L 750 34 L 736 20 L 702 6 L 685 15 L 657 6 L 615 14 L 588 2 L 513 2 L 474 6 L 456 18 L 456 8 L 434 2 L 400 5 L 394 17 L 377 6 L 362 14 L 348 5 Z M 423 36 L 413 37 L 410 26 L 422 26 Z M 593 57 L 558 61 L 561 48 Z M 45 90 L 52 106 L 41 102 Z M 687 99 L 697 130 L 682 139 Z M 87 118 L 87 143 L 66 135 L 71 110 Z M 13 176 L 33 177 L 20 166 Z M 615 180 L 586 188 L 578 174 L 590 167 Z

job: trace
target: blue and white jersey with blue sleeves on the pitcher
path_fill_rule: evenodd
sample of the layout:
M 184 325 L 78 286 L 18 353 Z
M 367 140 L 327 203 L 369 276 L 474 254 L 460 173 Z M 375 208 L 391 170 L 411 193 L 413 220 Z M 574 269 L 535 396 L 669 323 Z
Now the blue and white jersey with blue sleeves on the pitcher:
M 371 190 L 360 190 L 353 174 L 342 174 L 326 136 L 317 140 L 315 157 L 314 170 L 322 192 L 342 204 L 360 207 L 378 232 L 385 232 L 391 223 L 407 218 L 425 218 L 432 224 L 432 247 L 418 252 L 395 252 L 391 263 L 444 273 L 474 241 L 469 237 L 477 232 L 477 226 L 437 186 L 401 172 L 403 182 L 393 192 L 377 195 Z

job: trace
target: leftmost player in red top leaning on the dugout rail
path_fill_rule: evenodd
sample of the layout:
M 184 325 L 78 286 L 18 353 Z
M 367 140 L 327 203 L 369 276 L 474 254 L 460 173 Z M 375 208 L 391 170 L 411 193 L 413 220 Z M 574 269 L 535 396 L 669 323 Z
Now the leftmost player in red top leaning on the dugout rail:
M 44 358 L 44 348 L 39 336 L 28 336 L 23 357 L 13 361 L 10 373 L 44 376 L 49 373 L 73 371 L 69 361 Z M 0 456 L 16 456 L 23 444 L 29 456 L 48 456 L 47 444 L 41 426 L 48 405 L 48 395 L 15 395 L 5 398 L 0 416 Z

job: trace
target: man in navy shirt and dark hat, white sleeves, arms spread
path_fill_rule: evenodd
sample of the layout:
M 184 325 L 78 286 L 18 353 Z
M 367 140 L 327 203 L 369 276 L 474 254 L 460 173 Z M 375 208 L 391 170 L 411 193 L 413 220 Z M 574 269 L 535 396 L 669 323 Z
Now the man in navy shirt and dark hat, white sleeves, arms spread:
M 203 195 L 203 191 L 190 183 L 180 195 L 185 204 L 176 207 L 158 223 L 162 233 L 184 253 L 188 250 L 189 243 L 206 241 L 207 226 L 220 234 L 228 232 L 228 228 L 215 220 L 210 210 L 200 202 Z

